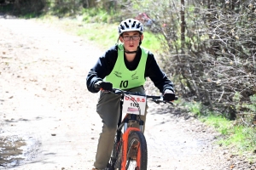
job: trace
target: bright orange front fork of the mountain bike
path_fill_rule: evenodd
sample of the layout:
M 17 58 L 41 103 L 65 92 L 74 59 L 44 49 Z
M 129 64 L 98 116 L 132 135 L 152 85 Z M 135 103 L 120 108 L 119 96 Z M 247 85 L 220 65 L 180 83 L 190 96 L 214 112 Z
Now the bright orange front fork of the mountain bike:
M 127 130 L 125 131 L 125 133 L 123 134 L 123 153 L 122 153 L 122 165 L 121 165 L 121 170 L 125 170 L 125 166 L 126 166 L 126 159 L 127 159 L 127 150 L 128 150 L 128 137 L 129 134 L 132 131 L 140 131 L 140 129 L 136 128 L 136 127 L 128 127 Z M 140 167 L 140 163 L 141 163 L 141 157 L 140 157 L 140 148 L 138 148 L 138 154 L 137 154 L 137 167 Z

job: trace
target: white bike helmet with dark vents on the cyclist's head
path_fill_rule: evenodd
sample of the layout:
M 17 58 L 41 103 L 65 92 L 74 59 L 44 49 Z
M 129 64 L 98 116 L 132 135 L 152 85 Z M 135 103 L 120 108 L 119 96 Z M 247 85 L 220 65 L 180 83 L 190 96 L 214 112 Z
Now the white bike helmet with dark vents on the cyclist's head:
M 119 35 L 125 31 L 139 31 L 143 34 L 143 24 L 135 19 L 123 20 L 119 25 Z

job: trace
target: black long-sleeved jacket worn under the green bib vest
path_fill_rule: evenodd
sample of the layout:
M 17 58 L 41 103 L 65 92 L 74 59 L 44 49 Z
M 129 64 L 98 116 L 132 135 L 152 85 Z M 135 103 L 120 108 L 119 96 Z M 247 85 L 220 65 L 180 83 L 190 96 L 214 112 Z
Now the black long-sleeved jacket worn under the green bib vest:
M 130 71 L 134 71 L 141 59 L 142 49 L 139 48 L 135 59 L 132 62 L 128 62 L 125 59 L 125 65 Z M 96 65 L 92 67 L 86 78 L 87 88 L 91 93 L 97 93 L 99 90 L 94 88 L 94 84 L 108 76 L 113 70 L 113 66 L 118 57 L 117 45 L 108 49 L 96 62 Z M 149 77 L 154 86 L 159 88 L 161 93 L 164 93 L 166 89 L 171 89 L 173 92 L 173 84 L 166 77 L 166 74 L 160 70 L 159 65 L 154 59 L 154 54 L 148 53 L 148 59 L 146 62 L 145 77 Z

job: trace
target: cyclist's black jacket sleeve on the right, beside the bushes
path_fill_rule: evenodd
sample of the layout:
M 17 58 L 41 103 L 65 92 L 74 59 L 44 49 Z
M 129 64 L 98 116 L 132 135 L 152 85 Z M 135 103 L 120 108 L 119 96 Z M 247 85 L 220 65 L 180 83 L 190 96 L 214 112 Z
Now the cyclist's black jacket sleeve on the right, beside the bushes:
M 145 74 L 146 77 L 149 77 L 154 82 L 154 86 L 160 90 L 160 93 L 164 94 L 166 89 L 170 89 L 175 93 L 172 81 L 164 71 L 161 71 L 160 66 L 154 59 L 154 54 L 150 52 L 148 53 Z

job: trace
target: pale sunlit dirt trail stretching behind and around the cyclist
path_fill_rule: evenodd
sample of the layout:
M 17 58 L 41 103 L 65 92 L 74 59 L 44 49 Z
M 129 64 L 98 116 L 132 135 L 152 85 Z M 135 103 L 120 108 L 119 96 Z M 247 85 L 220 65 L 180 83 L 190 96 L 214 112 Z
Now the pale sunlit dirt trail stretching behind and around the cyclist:
M 90 169 L 102 124 L 85 77 L 103 50 L 34 20 L 1 18 L 0 31 L 0 141 L 24 145 L 23 160 L 0 157 L 0 169 Z M 201 122 L 149 107 L 148 169 L 255 168 L 214 145 L 218 133 Z

